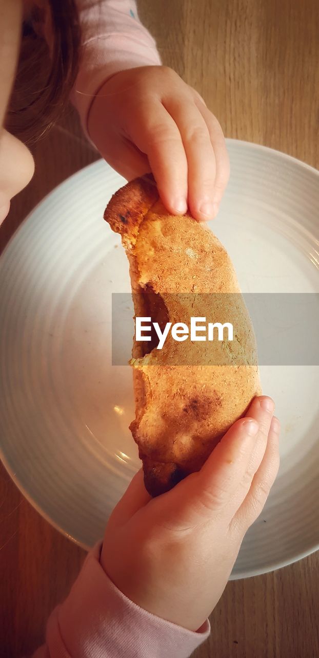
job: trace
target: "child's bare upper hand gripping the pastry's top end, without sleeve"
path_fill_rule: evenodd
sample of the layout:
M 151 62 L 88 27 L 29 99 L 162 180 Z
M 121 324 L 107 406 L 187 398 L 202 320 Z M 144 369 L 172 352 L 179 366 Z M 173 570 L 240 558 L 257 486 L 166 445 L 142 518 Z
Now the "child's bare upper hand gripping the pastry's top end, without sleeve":
M 88 128 L 98 151 L 127 180 L 152 171 L 169 212 L 183 214 L 188 205 L 198 220 L 217 214 L 229 177 L 223 131 L 171 68 L 114 75 L 93 101 Z

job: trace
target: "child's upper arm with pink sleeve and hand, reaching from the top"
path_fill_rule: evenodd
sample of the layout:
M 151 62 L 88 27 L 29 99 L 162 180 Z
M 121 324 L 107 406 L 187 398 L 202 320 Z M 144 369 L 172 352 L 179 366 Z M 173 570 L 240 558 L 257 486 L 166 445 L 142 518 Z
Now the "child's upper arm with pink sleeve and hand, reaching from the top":
M 133 0 L 77 0 L 83 51 L 72 100 L 101 155 L 131 180 L 148 171 L 173 214 L 217 215 L 228 182 L 223 131 L 171 68 Z

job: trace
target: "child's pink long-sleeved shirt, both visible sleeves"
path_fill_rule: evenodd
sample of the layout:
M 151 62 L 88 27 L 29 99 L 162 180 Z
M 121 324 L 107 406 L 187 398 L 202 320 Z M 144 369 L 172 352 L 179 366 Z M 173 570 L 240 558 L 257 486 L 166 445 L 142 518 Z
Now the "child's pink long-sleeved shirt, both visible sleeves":
M 93 97 L 107 78 L 161 61 L 133 0 L 77 0 L 77 5 L 83 53 L 72 101 L 86 130 Z M 49 24 L 45 32 L 50 41 Z M 138 607 L 111 582 L 99 557 L 97 545 L 68 598 L 49 617 L 45 645 L 33 658 L 186 658 L 209 636 L 208 620 L 192 632 Z

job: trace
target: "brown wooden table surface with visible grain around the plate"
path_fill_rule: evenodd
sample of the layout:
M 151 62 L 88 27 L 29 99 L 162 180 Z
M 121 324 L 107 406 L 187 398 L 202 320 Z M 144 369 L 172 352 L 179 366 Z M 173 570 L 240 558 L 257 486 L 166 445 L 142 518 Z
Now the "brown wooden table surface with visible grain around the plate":
M 226 136 L 319 168 L 318 0 L 140 0 L 139 7 L 165 64 L 198 89 Z M 35 177 L 12 203 L 1 247 L 35 203 L 95 159 L 68 112 L 35 148 Z M 0 656 L 15 658 L 42 642 L 85 553 L 39 516 L 4 469 L 0 476 Z M 318 581 L 312 555 L 230 582 L 196 658 L 318 657 Z

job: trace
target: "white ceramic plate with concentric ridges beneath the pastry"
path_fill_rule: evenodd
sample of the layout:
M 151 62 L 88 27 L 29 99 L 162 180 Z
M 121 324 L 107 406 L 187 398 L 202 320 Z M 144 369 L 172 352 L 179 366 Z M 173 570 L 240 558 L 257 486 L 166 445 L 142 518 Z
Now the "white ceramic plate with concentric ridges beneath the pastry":
M 217 236 L 243 291 L 318 292 L 319 172 L 228 140 L 231 177 Z M 129 366 L 111 365 L 112 291 L 129 291 L 119 236 L 103 221 L 123 184 L 103 161 L 53 191 L 0 259 L 1 456 L 24 495 L 85 547 L 140 466 Z M 182 219 L 181 219 L 182 221 Z M 232 578 L 318 547 L 318 367 L 263 367 L 282 422 L 281 467 Z

